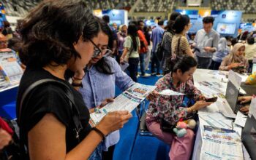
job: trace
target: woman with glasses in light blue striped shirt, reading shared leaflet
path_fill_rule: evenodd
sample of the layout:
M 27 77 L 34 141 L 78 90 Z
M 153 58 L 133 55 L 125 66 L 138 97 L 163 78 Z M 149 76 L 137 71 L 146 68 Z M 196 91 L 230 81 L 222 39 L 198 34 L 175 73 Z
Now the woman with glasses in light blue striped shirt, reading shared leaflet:
M 94 56 L 85 69 L 86 76 L 82 80 L 83 87 L 79 89 L 91 113 L 97 111 L 102 101 L 113 100 L 115 86 L 124 91 L 135 84 L 127 73 L 121 70 L 116 60 L 109 56 L 112 53 L 108 48 L 113 47 L 113 33 L 107 23 L 99 18 L 98 21 L 102 29 L 102 32 L 99 33 L 99 44 L 94 47 Z M 100 159 L 101 153 L 102 159 L 113 159 L 114 147 L 118 143 L 119 137 L 118 130 L 110 133 L 90 159 Z

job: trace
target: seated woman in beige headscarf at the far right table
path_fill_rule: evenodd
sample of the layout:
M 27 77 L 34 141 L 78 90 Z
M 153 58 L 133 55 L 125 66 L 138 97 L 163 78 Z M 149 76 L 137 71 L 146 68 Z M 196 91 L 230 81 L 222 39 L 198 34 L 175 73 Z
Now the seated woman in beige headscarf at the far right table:
M 230 69 L 236 69 L 244 67 L 244 70 L 249 68 L 248 60 L 244 57 L 244 44 L 237 43 L 234 45 L 230 54 L 227 55 L 219 66 L 219 70 L 230 71 Z

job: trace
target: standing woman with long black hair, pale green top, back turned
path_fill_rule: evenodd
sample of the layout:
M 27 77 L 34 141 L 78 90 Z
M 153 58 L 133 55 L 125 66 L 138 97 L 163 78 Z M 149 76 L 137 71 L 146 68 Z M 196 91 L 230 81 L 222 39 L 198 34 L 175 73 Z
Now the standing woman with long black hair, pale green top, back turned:
M 128 26 L 127 38 L 124 41 L 124 53 L 120 58 L 120 63 L 128 62 L 129 76 L 133 81 L 137 82 L 138 64 L 140 61 L 140 39 L 137 34 L 137 27 L 134 23 Z

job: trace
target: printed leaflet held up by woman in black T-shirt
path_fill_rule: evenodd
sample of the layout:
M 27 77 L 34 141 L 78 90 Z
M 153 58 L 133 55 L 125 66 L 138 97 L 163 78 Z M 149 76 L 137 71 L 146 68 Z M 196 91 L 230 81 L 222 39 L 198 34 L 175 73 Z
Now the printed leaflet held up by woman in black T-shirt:
M 99 111 L 90 114 L 91 127 L 94 127 L 106 116 L 109 112 L 113 111 L 129 111 L 132 112 L 145 98 L 154 91 L 156 86 L 147 86 L 143 84 L 134 84 L 129 87 L 125 92 L 118 95 L 113 103 L 108 103 L 105 107 L 100 108 Z

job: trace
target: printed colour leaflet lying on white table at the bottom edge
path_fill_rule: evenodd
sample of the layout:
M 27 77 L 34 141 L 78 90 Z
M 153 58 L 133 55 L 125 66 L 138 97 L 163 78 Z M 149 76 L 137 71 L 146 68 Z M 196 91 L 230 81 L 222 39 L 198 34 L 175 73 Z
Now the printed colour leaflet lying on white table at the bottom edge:
M 241 137 L 231 129 L 204 126 L 200 159 L 244 159 Z

